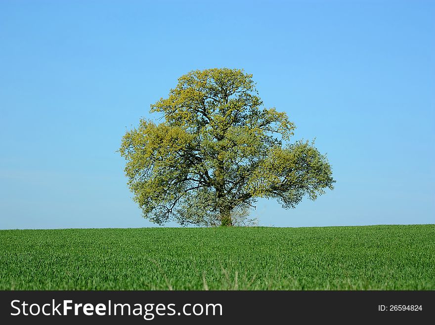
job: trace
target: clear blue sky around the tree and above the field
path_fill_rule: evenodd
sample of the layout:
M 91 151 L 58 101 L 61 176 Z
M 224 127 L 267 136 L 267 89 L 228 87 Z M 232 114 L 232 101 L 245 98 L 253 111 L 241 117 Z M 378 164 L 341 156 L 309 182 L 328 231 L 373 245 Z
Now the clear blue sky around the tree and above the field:
M 0 1 L 0 229 L 151 227 L 122 136 L 194 69 L 243 68 L 335 189 L 275 227 L 435 223 L 435 2 Z M 168 226 L 175 226 L 169 224 Z

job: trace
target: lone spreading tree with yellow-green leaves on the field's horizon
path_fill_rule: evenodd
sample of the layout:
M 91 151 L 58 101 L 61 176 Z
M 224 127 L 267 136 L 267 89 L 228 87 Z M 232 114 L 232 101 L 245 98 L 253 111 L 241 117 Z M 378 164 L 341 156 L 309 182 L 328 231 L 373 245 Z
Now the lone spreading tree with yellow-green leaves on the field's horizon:
M 307 141 L 290 143 L 295 125 L 262 106 L 243 70 L 191 71 L 150 112 L 164 121 L 141 119 L 120 153 L 133 199 L 154 223 L 232 226 L 258 197 L 288 209 L 333 188 L 326 157 Z

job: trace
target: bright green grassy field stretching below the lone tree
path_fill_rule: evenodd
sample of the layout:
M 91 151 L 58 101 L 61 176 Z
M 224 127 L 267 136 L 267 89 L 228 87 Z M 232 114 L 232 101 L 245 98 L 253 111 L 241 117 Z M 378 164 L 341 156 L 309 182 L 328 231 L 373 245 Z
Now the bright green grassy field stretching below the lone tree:
M 435 289 L 435 225 L 0 231 L 0 289 Z

